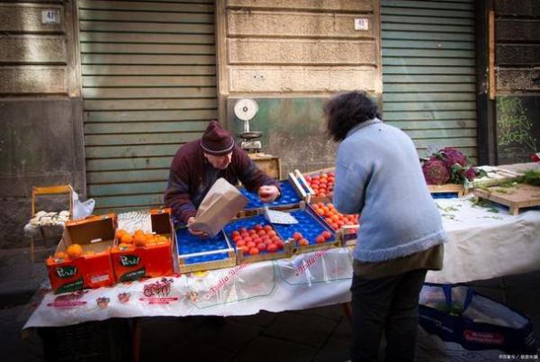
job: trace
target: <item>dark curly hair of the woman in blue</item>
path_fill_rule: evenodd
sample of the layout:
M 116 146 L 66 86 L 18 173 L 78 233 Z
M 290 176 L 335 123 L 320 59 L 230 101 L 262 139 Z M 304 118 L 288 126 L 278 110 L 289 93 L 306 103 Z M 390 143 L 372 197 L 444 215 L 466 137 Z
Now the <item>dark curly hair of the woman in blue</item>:
M 334 95 L 324 106 L 329 138 L 345 140 L 347 132 L 356 124 L 380 117 L 377 104 L 364 91 Z

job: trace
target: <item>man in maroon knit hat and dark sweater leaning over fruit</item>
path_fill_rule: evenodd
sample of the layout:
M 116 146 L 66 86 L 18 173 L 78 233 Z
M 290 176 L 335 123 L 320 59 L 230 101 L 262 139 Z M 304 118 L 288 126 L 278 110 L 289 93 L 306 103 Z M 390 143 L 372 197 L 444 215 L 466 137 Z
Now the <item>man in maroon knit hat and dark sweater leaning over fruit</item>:
M 213 120 L 201 139 L 184 144 L 173 158 L 165 204 L 173 210 L 175 219 L 189 228 L 202 199 L 220 177 L 232 185 L 240 181 L 248 191 L 257 192 L 263 203 L 271 203 L 280 195 L 277 181 L 261 171 L 229 131 Z

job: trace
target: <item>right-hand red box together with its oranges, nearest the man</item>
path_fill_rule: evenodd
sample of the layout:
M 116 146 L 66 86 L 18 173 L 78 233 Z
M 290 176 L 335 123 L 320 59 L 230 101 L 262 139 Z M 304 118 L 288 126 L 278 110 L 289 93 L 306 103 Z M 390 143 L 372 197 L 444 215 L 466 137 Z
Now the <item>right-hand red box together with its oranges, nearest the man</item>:
M 149 210 L 148 215 L 151 230 L 115 232 L 111 258 L 117 283 L 175 273 L 171 211 Z

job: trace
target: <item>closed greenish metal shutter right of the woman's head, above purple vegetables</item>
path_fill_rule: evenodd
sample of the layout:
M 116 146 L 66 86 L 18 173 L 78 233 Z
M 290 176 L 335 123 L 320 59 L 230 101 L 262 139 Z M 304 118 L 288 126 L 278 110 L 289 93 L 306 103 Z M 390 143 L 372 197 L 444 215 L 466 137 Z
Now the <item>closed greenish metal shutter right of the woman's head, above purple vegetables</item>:
M 383 0 L 383 118 L 476 162 L 473 0 Z

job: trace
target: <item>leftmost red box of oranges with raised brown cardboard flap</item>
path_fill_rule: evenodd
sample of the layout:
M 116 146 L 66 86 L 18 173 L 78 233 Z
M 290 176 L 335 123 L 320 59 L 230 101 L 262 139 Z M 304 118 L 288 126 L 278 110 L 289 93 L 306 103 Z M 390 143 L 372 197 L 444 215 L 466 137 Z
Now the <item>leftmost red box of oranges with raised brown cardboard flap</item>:
M 55 254 L 46 261 L 55 293 L 114 283 L 109 249 L 115 227 L 114 213 L 66 222 Z

